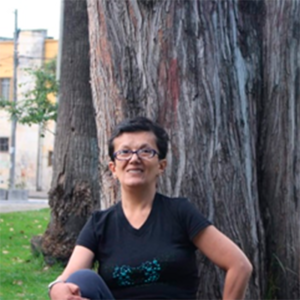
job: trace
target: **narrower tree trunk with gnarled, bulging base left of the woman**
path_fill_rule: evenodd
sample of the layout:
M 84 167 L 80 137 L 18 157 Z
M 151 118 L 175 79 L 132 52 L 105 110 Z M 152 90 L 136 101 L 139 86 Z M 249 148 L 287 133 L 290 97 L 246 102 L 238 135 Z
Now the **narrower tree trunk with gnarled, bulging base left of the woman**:
M 97 131 L 90 76 L 85 1 L 64 1 L 60 96 L 49 204 L 46 261 L 66 262 L 79 231 L 99 207 Z

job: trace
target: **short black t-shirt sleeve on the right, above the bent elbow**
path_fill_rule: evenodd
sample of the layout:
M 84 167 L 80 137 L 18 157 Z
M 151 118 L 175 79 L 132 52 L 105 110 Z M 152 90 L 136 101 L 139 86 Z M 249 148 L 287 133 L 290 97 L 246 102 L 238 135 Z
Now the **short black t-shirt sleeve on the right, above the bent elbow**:
M 194 203 L 185 198 L 180 200 L 179 217 L 189 239 L 192 241 L 201 230 L 212 225 L 212 223 L 203 216 Z

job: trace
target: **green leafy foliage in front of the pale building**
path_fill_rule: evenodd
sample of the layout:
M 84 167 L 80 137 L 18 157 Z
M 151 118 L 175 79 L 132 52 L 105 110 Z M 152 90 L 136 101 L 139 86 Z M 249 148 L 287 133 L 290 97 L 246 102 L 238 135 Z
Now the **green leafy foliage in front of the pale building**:
M 56 96 L 58 93 L 56 60 L 35 70 L 28 69 L 27 72 L 35 79 L 34 89 L 17 102 L 0 100 L 0 109 L 5 109 L 11 118 L 16 118 L 21 124 L 40 124 L 45 127 L 47 121 L 57 118 L 57 102 L 50 99 L 50 95 Z

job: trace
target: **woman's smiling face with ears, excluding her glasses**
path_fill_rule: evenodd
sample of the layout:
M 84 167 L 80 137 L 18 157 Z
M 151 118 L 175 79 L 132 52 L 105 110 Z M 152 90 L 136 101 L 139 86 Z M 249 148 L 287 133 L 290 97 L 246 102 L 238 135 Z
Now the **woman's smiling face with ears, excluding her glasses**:
M 148 131 L 126 132 L 114 139 L 114 152 L 120 150 L 154 149 L 158 152 L 156 137 Z M 141 159 L 133 154 L 128 161 L 109 163 L 113 176 L 125 187 L 150 187 L 156 185 L 157 177 L 164 171 L 166 160 L 159 160 L 158 155 L 149 159 Z

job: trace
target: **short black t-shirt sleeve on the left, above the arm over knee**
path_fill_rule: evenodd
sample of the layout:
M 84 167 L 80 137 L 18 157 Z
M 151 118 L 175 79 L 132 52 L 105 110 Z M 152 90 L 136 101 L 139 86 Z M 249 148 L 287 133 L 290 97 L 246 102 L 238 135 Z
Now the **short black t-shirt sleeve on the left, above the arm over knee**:
M 76 241 L 76 245 L 86 247 L 97 253 L 98 238 L 95 233 L 96 213 L 93 213 L 83 226 Z

